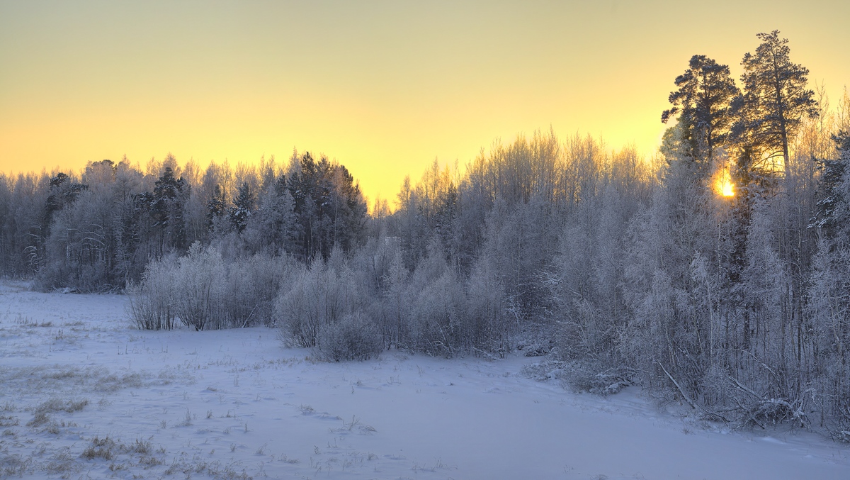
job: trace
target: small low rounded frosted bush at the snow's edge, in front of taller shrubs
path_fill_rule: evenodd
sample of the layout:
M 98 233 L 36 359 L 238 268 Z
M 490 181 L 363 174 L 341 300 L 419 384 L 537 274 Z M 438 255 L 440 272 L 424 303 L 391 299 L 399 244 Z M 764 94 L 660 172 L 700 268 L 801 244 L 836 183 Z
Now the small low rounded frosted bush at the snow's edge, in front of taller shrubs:
M 322 360 L 368 360 L 383 350 L 377 325 L 360 312 L 345 315 L 337 323 L 326 323 L 318 331 L 316 356 Z

